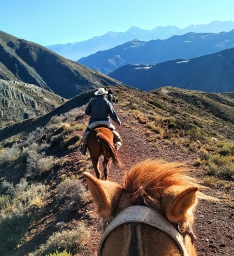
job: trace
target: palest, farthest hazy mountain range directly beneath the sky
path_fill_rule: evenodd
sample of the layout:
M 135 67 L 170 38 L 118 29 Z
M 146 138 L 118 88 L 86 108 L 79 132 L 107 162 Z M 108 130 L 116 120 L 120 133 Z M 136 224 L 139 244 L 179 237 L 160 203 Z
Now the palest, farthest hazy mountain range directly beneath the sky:
M 234 22 L 232 21 L 212 21 L 206 25 L 190 25 L 184 29 L 174 26 L 160 26 L 152 30 L 131 27 L 126 32 L 108 32 L 103 36 L 96 36 L 78 43 L 54 44 L 46 47 L 67 59 L 76 61 L 97 51 L 108 50 L 134 39 L 150 41 L 153 39 L 167 39 L 171 36 L 183 35 L 188 32 L 218 33 L 232 29 L 234 29 Z

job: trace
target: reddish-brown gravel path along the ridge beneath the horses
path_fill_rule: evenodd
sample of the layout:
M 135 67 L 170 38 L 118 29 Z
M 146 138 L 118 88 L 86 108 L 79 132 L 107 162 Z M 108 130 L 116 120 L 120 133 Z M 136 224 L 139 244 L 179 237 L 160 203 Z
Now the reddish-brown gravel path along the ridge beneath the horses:
M 187 161 L 190 165 L 197 158 L 192 153 L 186 154 L 175 146 L 165 144 L 163 140 L 157 140 L 157 148 L 155 148 L 151 142 L 146 142 L 147 136 L 145 132 L 147 128 L 144 124 L 138 123 L 131 115 L 122 112 L 118 105 L 114 105 L 114 108 L 122 122 L 121 126 L 116 126 L 116 130 L 123 139 L 123 146 L 118 154 L 124 164 L 124 168 L 119 170 L 112 165 L 109 180 L 122 183 L 124 172 L 146 158 L 162 158 L 167 162 Z M 87 117 L 82 119 L 82 122 L 87 121 Z M 70 157 L 71 171 L 79 171 L 79 167 L 76 167 L 76 162 L 82 159 L 83 156 L 76 152 L 72 153 Z M 192 176 L 200 178 L 203 172 L 204 169 L 201 167 L 194 168 L 191 166 L 190 174 Z M 85 180 L 83 182 L 85 184 Z M 194 232 L 198 238 L 196 242 L 197 255 L 234 256 L 232 249 L 234 245 L 234 208 L 232 207 L 234 191 L 233 189 L 228 191 L 224 186 L 218 185 L 214 191 L 208 191 L 207 194 L 218 198 L 225 197 L 225 200 L 223 199 L 220 204 L 201 201 L 196 208 Z M 228 200 L 232 201 L 230 202 L 231 206 L 225 203 Z M 94 256 L 96 255 L 97 245 L 101 238 L 101 234 L 97 232 L 97 225 L 100 219 L 95 213 L 93 204 L 89 204 L 87 208 L 81 209 L 82 211 L 92 216 L 92 218 L 84 220 L 91 230 L 91 238 L 82 254 L 76 254 L 76 256 Z

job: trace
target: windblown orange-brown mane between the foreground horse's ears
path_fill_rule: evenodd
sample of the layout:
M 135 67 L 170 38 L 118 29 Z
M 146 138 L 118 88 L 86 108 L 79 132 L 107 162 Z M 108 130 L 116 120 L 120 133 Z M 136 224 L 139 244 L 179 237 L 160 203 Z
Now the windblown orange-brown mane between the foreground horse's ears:
M 189 169 L 186 163 L 166 163 L 164 160 L 144 160 L 130 169 L 124 176 L 124 187 L 131 195 L 131 201 L 139 204 L 150 204 L 159 201 L 163 190 L 178 185 L 185 188 L 196 186 L 200 189 L 206 187 L 199 185 L 198 181 L 188 176 Z M 200 199 L 218 201 L 198 192 Z

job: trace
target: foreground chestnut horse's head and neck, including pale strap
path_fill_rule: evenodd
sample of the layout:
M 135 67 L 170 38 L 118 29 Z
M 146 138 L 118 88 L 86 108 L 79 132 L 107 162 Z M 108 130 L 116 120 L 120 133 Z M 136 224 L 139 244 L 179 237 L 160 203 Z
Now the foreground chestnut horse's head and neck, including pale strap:
M 124 185 L 85 172 L 101 227 L 110 222 L 98 256 L 195 256 L 193 210 L 199 198 L 216 199 L 185 171 L 183 164 L 145 160 L 125 174 Z

